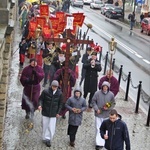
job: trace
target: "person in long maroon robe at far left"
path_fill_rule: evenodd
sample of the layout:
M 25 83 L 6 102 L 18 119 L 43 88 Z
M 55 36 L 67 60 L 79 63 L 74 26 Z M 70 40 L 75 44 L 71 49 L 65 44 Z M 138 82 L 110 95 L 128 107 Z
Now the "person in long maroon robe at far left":
M 21 106 L 26 111 L 26 119 L 33 118 L 34 111 L 38 108 L 40 82 L 43 78 L 43 69 L 37 65 L 36 59 L 30 59 L 30 65 L 22 70 L 20 77 L 20 82 L 24 87 Z

